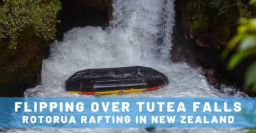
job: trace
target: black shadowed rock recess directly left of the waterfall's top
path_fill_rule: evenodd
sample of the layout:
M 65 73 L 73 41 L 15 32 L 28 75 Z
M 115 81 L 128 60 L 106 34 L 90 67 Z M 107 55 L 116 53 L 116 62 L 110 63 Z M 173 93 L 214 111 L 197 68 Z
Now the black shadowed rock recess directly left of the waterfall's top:
M 107 27 L 111 19 L 111 0 L 61 0 L 57 38 L 62 40 L 63 33 L 73 27 Z

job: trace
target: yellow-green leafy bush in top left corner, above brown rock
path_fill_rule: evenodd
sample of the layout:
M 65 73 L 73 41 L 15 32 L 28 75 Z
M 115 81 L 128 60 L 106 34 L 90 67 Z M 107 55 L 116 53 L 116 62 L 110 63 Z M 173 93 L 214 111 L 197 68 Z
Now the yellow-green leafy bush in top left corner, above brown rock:
M 33 27 L 36 35 L 54 39 L 59 10 L 60 0 L 4 0 L 0 6 L 0 38 L 9 40 L 10 48 L 15 48 L 20 32 Z

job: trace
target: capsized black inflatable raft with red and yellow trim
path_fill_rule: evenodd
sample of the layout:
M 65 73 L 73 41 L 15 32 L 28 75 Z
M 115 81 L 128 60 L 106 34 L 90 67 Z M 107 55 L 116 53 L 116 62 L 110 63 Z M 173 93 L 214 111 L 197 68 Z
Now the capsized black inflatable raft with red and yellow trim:
M 104 95 L 157 90 L 167 84 L 163 73 L 132 66 L 78 71 L 68 78 L 65 87 L 71 93 Z

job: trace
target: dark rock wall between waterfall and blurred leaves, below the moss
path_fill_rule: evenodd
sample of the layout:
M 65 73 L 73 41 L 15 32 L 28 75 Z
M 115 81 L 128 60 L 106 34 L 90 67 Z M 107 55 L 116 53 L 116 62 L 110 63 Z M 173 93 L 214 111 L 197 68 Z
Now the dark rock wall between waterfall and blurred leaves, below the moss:
M 202 67 L 202 74 L 205 75 L 211 85 L 220 88 L 222 83 L 226 85 L 243 88 L 244 72 L 246 64 L 242 62 L 234 71 L 226 69 L 228 60 L 221 59 L 221 51 L 227 45 L 228 40 L 236 33 L 236 26 L 230 24 L 225 25 L 224 20 L 212 20 L 207 22 L 209 29 L 193 26 L 193 20 L 189 13 L 190 10 L 186 7 L 195 0 L 175 1 L 176 21 L 173 31 L 173 47 L 172 60 L 173 62 L 187 62 L 191 67 Z M 234 14 L 235 15 L 235 14 Z M 214 19 L 217 15 L 209 16 Z M 228 31 L 225 32 L 225 30 Z M 223 31 L 224 30 L 224 31 Z M 225 36 L 223 35 L 225 34 Z M 254 95 L 252 92 L 246 91 L 249 95 Z

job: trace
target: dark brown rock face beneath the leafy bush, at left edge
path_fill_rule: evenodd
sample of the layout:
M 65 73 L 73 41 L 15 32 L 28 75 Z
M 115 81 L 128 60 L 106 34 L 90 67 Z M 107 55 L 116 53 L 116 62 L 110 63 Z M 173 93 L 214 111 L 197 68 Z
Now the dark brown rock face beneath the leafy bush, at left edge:
M 19 97 L 29 87 L 41 81 L 41 67 L 47 41 L 27 28 L 19 37 L 17 48 L 8 48 L 8 41 L 0 43 L 0 96 Z

